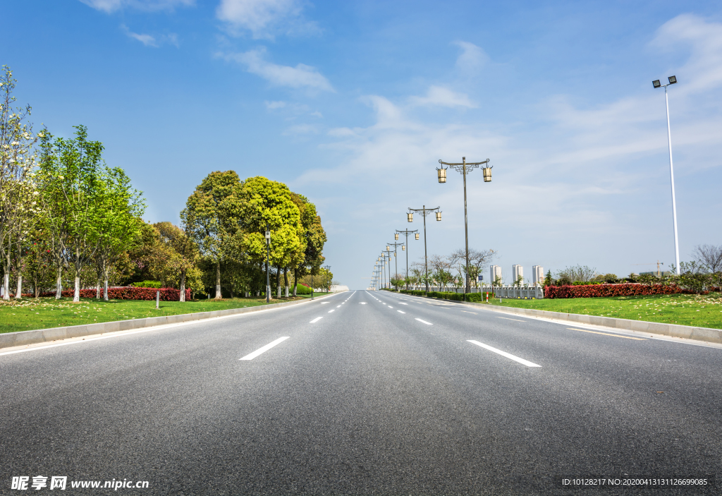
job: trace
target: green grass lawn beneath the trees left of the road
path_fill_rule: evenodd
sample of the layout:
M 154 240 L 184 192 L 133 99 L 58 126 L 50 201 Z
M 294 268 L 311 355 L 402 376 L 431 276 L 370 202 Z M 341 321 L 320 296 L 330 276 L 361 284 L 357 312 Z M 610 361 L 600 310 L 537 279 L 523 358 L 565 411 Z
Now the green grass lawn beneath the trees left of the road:
M 328 293 L 314 293 L 322 296 Z M 303 300 L 310 295 L 271 300 L 271 303 Z M 126 321 L 132 318 L 172 316 L 180 313 L 210 312 L 228 308 L 266 305 L 264 297 L 233 298 L 232 300 L 196 300 L 188 302 L 162 301 L 155 309 L 155 300 L 95 300 L 81 298 L 73 303 L 71 298 L 56 300 L 48 298 L 23 298 L 0 301 L 0 333 L 48 329 L 51 327 L 79 326 L 87 323 Z

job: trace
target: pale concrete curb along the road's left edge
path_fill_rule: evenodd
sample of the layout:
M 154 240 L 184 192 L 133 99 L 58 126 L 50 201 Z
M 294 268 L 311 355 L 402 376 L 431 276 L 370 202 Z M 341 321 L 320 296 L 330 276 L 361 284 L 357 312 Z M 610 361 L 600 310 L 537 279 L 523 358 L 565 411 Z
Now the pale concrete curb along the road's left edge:
M 314 298 L 314 301 L 336 294 L 338 293 L 331 293 L 331 295 L 316 297 Z M 111 332 L 143 329 L 144 327 L 165 326 L 165 324 L 169 323 L 201 321 L 206 318 L 225 317 L 238 315 L 240 313 L 271 310 L 271 308 L 300 305 L 301 303 L 309 303 L 310 301 L 310 299 L 297 300 L 284 303 L 271 303 L 271 305 L 259 305 L 257 307 L 229 308 L 227 310 L 215 310 L 213 312 L 181 313 L 176 316 L 136 318 L 130 321 L 101 322 L 85 324 L 83 326 L 53 327 L 51 329 L 36 329 L 35 331 L 6 332 L 0 334 L 0 349 L 26 346 L 28 344 L 47 343 L 49 341 L 58 341 L 59 339 L 91 336 L 93 334 L 108 334 Z

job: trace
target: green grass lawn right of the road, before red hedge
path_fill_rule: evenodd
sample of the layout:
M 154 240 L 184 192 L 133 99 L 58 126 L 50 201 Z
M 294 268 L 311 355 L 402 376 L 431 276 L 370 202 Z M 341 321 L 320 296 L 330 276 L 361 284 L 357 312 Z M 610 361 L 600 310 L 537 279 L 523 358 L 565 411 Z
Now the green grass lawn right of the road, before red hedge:
M 493 300 L 490 298 L 489 304 L 722 329 L 722 296 L 716 292 L 709 295 L 619 296 L 552 300 L 503 298 L 502 303 L 499 303 L 497 298 Z

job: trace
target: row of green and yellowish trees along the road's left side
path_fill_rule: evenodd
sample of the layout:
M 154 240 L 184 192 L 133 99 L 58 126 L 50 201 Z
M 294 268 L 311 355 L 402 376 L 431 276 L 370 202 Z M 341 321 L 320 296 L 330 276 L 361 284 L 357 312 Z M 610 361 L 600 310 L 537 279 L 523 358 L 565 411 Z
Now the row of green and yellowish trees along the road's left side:
M 0 274 L 5 302 L 72 287 L 79 303 L 95 288 L 108 301 L 117 287 L 172 288 L 215 300 L 266 293 L 293 295 L 303 277 L 328 289 L 322 269 L 326 232 L 316 206 L 283 183 L 241 180 L 215 171 L 188 197 L 180 225 L 144 222 L 145 201 L 118 168 L 105 164 L 103 143 L 74 126 L 70 139 L 34 134 L 31 108 L 13 108 L 15 80 L 0 74 Z M 270 244 L 266 249 L 266 229 Z M 266 269 L 266 254 L 270 267 Z M 281 276 L 283 275 L 283 281 Z M 275 283 L 275 284 L 274 284 Z M 282 290 L 284 286 L 284 290 Z M 310 290 L 308 291 L 310 293 Z M 123 292 L 133 295 L 139 292 Z

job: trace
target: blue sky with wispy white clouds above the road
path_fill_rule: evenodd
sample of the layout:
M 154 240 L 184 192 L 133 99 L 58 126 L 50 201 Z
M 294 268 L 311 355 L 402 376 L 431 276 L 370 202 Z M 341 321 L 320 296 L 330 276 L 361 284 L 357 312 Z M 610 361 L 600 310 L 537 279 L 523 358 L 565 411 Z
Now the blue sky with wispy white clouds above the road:
M 712 1 L 38 0 L 4 7 L 0 64 L 59 136 L 77 124 L 178 222 L 206 174 L 314 201 L 327 263 L 366 287 L 407 207 L 441 206 L 429 253 L 469 244 L 510 276 L 573 264 L 618 275 L 721 244 L 722 7 Z M 423 255 L 411 241 L 410 256 Z M 399 258 L 399 262 L 405 258 Z M 401 268 L 401 267 L 399 267 Z

